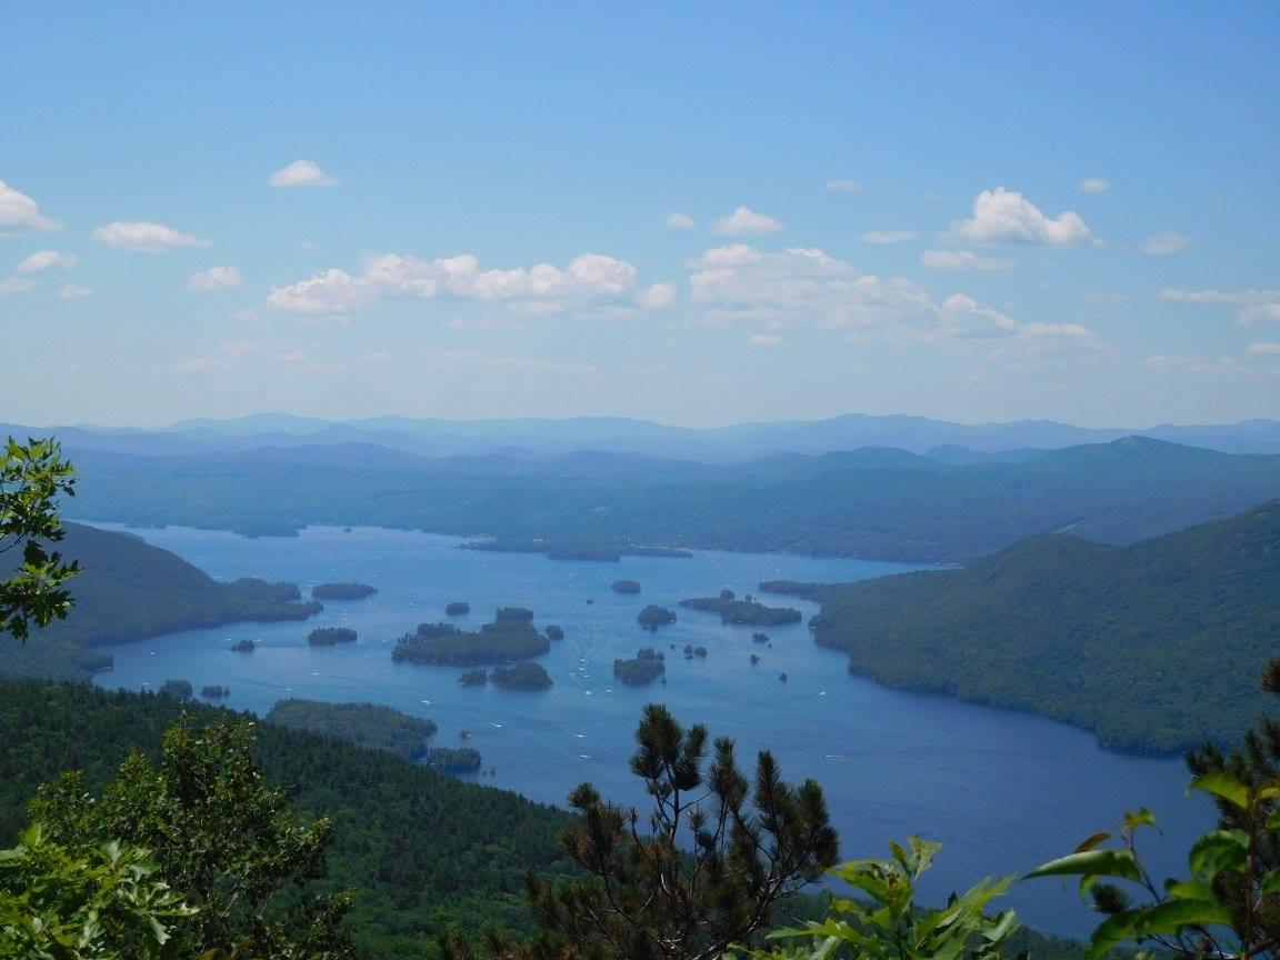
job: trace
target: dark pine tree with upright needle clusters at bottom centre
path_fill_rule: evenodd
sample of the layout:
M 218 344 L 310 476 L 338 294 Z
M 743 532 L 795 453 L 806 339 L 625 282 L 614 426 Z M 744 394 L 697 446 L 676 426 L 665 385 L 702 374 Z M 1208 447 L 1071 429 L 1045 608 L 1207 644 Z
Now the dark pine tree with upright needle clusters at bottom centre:
M 530 877 L 539 933 L 524 946 L 490 942 L 492 950 L 709 960 L 764 929 L 780 900 L 836 863 L 822 788 L 812 780 L 785 783 L 769 753 L 756 759 L 754 787 L 727 737 L 716 740 L 704 771 L 707 728 L 685 730 L 654 704 L 644 709 L 636 744 L 631 769 L 653 797 L 649 831 L 635 809 L 604 801 L 590 783 L 575 790 L 570 804 L 580 818 L 562 845 L 589 878 L 557 887 Z

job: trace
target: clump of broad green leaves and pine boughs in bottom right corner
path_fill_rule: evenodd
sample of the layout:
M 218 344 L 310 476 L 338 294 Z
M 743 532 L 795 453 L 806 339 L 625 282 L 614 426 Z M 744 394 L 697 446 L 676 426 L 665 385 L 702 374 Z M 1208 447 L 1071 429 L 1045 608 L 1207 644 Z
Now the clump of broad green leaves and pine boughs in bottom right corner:
M 1262 687 L 1280 692 L 1280 659 Z M 1236 750 L 1206 745 L 1187 765 L 1189 788 L 1213 799 L 1219 823 L 1192 844 L 1185 878 L 1156 883 L 1143 864 L 1137 838 L 1156 827 L 1149 810 L 1125 814 L 1116 836 L 1094 833 L 1028 874 L 1080 877 L 1080 893 L 1106 915 L 1087 957 L 1126 941 L 1183 957 L 1280 956 L 1280 722 L 1263 717 Z

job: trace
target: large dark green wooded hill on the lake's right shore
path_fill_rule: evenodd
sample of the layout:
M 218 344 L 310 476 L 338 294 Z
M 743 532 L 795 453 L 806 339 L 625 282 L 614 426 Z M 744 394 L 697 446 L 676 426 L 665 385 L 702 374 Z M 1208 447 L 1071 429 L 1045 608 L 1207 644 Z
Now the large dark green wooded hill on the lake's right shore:
M 817 641 L 883 684 L 1034 710 L 1124 749 L 1234 741 L 1280 653 L 1280 500 L 1129 547 L 1037 536 L 822 596 Z

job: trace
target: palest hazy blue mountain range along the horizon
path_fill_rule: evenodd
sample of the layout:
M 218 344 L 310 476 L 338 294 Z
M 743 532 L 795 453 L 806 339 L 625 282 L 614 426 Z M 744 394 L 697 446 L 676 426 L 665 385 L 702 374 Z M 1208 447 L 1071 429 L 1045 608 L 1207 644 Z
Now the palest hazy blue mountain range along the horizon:
M 1123 436 L 1148 436 L 1224 453 L 1280 453 L 1280 421 L 1221 425 L 1164 424 L 1151 429 L 1091 429 L 1052 420 L 954 424 L 905 415 L 850 413 L 829 420 L 737 424 L 709 429 L 666 426 L 623 417 L 568 420 L 415 420 L 383 416 L 329 421 L 288 413 L 234 420 L 186 420 L 157 430 L 0 424 L 0 434 L 56 433 L 72 451 L 172 456 L 228 453 L 262 447 L 371 444 L 425 457 L 545 457 L 580 451 L 724 463 L 777 453 L 822 454 L 860 447 L 893 447 L 942 457 L 980 457 L 1044 451 Z

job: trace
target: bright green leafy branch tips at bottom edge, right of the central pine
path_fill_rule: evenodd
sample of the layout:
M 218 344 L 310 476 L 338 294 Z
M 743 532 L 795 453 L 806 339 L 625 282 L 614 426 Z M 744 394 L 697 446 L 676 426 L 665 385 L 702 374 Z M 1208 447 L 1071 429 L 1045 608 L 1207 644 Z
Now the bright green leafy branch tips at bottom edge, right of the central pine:
M 941 844 L 909 837 L 905 847 L 890 844 L 888 860 L 855 860 L 837 867 L 833 873 L 856 887 L 860 899 L 835 899 L 822 923 L 769 934 L 771 940 L 801 941 L 801 946 L 753 951 L 753 956 L 824 960 L 841 950 L 865 960 L 1000 960 L 1001 948 L 1018 929 L 1018 918 L 1012 910 L 996 916 L 984 910 L 1014 878 L 988 878 L 960 896 L 952 893 L 945 908 L 920 908 L 915 902 L 916 886 L 941 849 Z

